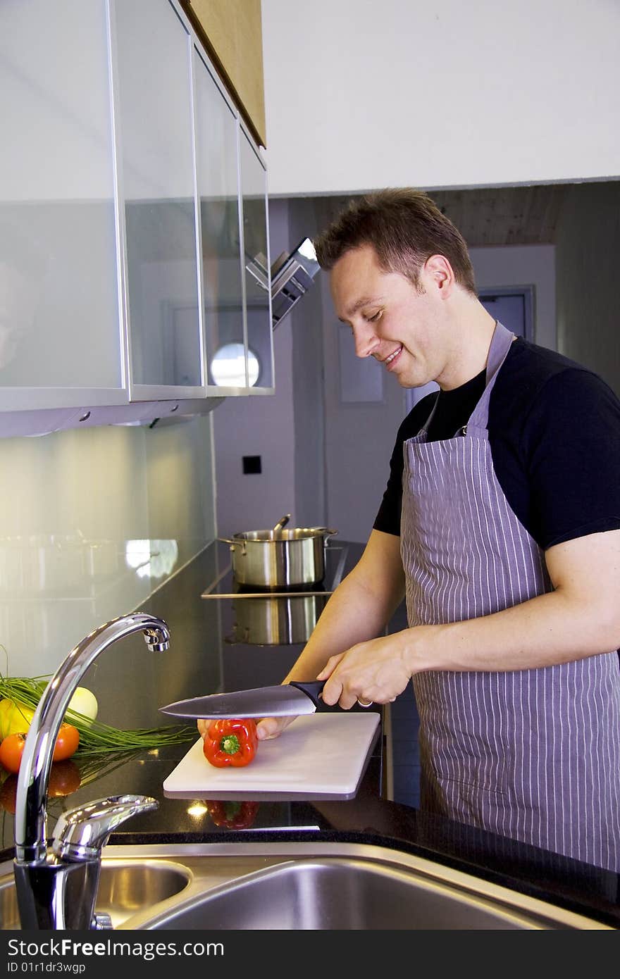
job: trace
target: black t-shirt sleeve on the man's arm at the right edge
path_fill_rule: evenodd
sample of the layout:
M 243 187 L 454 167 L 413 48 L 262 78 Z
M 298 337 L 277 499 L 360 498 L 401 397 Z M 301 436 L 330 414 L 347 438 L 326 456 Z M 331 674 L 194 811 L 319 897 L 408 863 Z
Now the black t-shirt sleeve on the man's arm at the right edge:
M 549 378 L 526 418 L 531 533 L 547 550 L 620 529 L 620 401 L 596 374 Z

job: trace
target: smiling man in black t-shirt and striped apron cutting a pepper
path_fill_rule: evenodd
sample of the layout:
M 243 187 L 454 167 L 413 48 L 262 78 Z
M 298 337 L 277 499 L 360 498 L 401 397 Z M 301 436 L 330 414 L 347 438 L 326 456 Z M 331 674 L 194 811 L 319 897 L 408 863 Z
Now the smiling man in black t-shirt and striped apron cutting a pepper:
M 620 870 L 620 403 L 496 323 L 426 195 L 369 195 L 315 248 L 358 356 L 440 392 L 287 680 L 351 708 L 412 677 L 421 808 Z

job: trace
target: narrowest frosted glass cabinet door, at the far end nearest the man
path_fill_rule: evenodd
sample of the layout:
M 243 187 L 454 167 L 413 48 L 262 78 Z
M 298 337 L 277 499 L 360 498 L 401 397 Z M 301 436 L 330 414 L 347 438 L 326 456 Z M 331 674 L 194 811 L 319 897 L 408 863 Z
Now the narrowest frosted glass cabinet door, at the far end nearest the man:
M 266 174 L 262 160 L 240 127 L 243 249 L 245 263 L 248 373 L 251 394 L 273 392 L 273 338 Z

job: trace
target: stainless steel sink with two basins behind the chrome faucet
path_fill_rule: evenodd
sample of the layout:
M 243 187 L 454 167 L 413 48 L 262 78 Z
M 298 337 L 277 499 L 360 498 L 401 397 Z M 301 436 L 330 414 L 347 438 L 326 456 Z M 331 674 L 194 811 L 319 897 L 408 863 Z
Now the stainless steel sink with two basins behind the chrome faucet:
M 12 864 L 0 927 L 19 928 Z M 97 910 L 119 929 L 609 929 L 587 916 L 384 847 L 109 846 Z

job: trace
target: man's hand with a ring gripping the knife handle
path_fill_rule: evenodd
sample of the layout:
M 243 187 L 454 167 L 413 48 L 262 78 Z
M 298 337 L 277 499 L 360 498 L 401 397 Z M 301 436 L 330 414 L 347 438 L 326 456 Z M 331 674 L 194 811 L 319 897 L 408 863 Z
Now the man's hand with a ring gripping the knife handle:
M 322 698 L 349 710 L 357 700 L 388 704 L 405 690 L 411 678 L 406 661 L 405 632 L 358 642 L 330 656 L 316 679 L 326 680 Z

